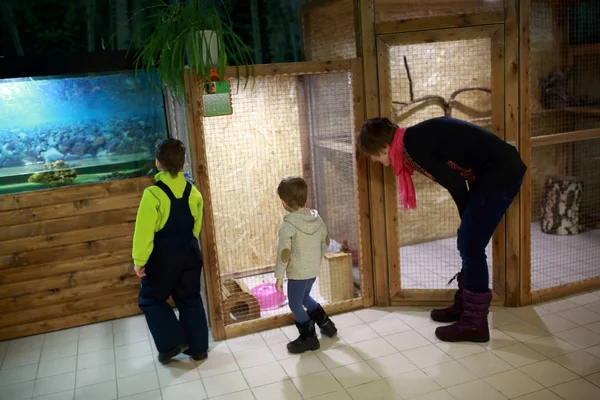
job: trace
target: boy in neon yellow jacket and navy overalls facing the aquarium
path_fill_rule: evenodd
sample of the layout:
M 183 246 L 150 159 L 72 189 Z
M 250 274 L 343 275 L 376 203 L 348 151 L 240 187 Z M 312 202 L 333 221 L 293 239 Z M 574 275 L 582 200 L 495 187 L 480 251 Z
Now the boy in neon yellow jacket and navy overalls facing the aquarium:
M 200 297 L 202 254 L 198 245 L 203 200 L 183 174 L 185 146 L 166 139 L 156 148 L 156 183 L 146 188 L 133 236 L 135 272 L 142 278 L 138 304 L 159 352 L 167 363 L 184 352 L 203 360 L 208 324 Z M 167 304 L 169 296 L 179 320 Z

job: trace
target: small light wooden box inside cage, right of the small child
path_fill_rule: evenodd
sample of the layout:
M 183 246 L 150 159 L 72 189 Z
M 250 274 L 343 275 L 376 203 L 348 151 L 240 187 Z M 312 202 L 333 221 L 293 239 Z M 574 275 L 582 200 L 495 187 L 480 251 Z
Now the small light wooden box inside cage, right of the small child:
M 351 254 L 325 253 L 321 262 L 319 290 L 329 303 L 354 298 Z

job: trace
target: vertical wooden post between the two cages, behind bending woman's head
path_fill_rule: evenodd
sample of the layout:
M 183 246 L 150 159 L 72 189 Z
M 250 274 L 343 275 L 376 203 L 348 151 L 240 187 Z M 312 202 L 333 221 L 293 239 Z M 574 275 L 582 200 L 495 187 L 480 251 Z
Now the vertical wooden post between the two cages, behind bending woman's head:
M 375 49 L 374 0 L 356 0 L 357 54 L 362 57 L 364 72 L 365 118 L 379 116 L 377 83 L 377 54 Z M 357 127 L 358 129 L 358 127 Z M 362 157 L 362 156 L 361 156 Z M 384 202 L 384 173 L 380 164 L 368 162 L 369 210 L 371 216 L 371 253 L 374 272 L 375 305 L 387 306 L 390 301 L 389 271 L 386 245 L 386 215 Z M 390 227 L 396 229 L 396 226 Z M 393 244 L 394 246 L 396 244 Z

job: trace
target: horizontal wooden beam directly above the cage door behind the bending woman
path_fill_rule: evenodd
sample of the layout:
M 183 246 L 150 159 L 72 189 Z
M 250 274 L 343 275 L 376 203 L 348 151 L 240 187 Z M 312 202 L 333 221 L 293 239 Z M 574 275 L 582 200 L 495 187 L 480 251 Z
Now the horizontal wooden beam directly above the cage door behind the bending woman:
M 504 23 L 504 18 L 504 12 L 462 13 L 407 18 L 399 21 L 379 22 L 375 24 L 375 34 L 386 35 L 400 32 L 502 24 Z

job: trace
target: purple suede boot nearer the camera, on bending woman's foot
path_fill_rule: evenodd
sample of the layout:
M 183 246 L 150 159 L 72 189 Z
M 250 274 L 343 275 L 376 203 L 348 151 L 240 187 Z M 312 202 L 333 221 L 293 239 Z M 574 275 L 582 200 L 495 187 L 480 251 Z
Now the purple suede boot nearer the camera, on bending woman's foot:
M 458 322 L 441 326 L 435 336 L 443 342 L 477 342 L 490 340 L 487 316 L 492 301 L 492 291 L 473 293 L 463 289 L 463 313 Z

